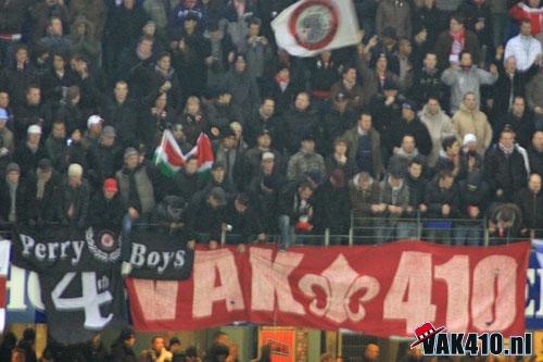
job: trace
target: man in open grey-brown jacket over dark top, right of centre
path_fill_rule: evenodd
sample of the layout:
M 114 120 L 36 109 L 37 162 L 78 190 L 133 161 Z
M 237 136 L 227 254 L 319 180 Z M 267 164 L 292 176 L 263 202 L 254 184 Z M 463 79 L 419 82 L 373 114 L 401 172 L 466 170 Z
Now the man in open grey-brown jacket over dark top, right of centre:
M 371 114 L 361 113 L 357 125 L 349 129 L 343 138 L 348 145 L 348 160 L 353 160 L 359 172 L 367 172 L 374 178 L 379 179 L 384 168 L 380 136 L 372 126 Z

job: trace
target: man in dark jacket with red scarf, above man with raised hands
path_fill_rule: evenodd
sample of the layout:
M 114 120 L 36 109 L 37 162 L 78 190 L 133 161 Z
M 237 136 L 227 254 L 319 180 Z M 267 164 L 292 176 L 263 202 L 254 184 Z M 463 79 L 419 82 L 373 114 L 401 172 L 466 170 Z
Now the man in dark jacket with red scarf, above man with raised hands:
M 438 64 L 442 70 L 462 63 L 462 53 L 471 54 L 475 64 L 481 60 L 481 46 L 477 35 L 466 29 L 465 23 L 466 18 L 460 13 L 453 14 L 449 30 L 441 33 L 435 41 Z

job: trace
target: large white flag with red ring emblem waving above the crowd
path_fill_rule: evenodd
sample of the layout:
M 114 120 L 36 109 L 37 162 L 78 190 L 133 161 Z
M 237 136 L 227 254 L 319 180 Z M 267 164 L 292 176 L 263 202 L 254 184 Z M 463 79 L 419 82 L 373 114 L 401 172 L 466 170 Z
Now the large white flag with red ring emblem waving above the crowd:
M 277 46 L 295 57 L 314 57 L 324 50 L 361 42 L 352 0 L 302 0 L 273 22 Z

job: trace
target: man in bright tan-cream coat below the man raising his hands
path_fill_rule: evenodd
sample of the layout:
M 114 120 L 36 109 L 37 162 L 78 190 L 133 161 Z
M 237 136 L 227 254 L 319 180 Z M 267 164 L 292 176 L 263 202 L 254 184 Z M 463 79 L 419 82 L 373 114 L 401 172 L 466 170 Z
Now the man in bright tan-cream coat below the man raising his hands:
M 463 138 L 472 134 L 477 142 L 477 152 L 484 154 L 492 141 L 492 127 L 489 124 L 487 114 L 479 110 L 476 95 L 468 92 L 464 96 L 464 101 L 459 110 L 453 116 L 453 129 Z

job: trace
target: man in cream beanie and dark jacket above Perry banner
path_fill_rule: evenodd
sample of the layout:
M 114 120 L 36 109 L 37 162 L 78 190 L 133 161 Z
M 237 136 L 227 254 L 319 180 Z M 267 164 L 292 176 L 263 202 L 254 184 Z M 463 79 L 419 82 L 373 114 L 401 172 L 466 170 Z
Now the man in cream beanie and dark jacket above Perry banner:
M 62 225 L 70 225 L 79 229 L 87 226 L 89 214 L 90 189 L 83 177 L 83 167 L 77 163 L 68 166 L 67 179 L 59 190 L 56 217 Z

